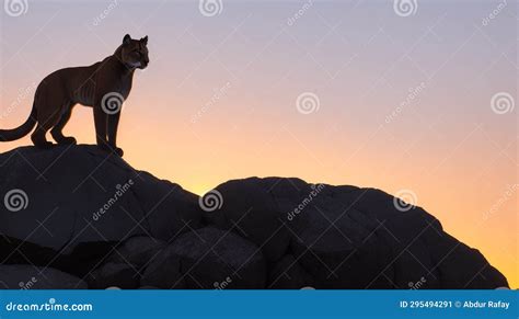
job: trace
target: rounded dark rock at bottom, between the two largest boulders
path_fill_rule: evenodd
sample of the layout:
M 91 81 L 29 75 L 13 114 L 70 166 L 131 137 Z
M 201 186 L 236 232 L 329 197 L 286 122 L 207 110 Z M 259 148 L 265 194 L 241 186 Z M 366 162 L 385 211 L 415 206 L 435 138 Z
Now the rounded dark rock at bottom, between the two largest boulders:
M 164 251 L 180 261 L 186 288 L 264 288 L 265 261 L 258 248 L 230 231 L 206 227 L 187 232 Z M 164 269 L 164 274 L 168 274 Z

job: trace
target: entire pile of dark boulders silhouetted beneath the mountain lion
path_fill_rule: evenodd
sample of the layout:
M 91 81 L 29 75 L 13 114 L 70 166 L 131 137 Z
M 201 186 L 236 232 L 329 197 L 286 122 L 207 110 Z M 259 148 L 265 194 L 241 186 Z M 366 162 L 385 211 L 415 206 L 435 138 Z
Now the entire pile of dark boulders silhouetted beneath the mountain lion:
M 28 202 L 0 205 L 0 282 L 36 266 L 77 288 L 508 287 L 434 216 L 374 189 L 251 178 L 205 202 L 92 146 L 18 148 L 0 176 L 2 197 Z

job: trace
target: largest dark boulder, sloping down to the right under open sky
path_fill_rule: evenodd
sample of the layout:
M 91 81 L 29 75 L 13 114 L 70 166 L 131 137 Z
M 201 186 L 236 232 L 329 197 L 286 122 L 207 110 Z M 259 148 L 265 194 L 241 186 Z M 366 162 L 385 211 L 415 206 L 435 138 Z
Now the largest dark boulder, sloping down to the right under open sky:
M 246 236 L 270 262 L 292 255 L 315 288 L 410 288 L 418 282 L 420 288 L 508 286 L 481 253 L 446 233 L 434 216 L 419 207 L 403 213 L 393 196 L 379 190 L 279 178 L 231 181 L 217 190 L 222 208 L 215 217 L 206 213 L 206 219 Z M 242 223 L 245 215 L 254 223 Z M 232 228 L 231 219 L 240 227 Z M 268 239 L 280 223 L 288 247 Z

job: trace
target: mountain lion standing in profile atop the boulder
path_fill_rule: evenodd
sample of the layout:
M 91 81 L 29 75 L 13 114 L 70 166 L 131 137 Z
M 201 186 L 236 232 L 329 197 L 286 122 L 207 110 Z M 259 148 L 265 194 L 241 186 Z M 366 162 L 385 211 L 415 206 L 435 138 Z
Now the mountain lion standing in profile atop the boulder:
M 148 36 L 132 39 L 127 34 L 123 44 L 104 60 L 50 73 L 36 89 L 27 121 L 13 129 L 0 129 L 0 141 L 22 138 L 37 123 L 31 136 L 35 146 L 53 146 L 45 137 L 49 129 L 58 144 L 76 144 L 76 138 L 64 136 L 62 129 L 79 103 L 93 107 L 97 146 L 123 156 L 117 147 L 120 109 L 131 90 L 135 69 L 143 69 L 150 61 L 147 45 Z

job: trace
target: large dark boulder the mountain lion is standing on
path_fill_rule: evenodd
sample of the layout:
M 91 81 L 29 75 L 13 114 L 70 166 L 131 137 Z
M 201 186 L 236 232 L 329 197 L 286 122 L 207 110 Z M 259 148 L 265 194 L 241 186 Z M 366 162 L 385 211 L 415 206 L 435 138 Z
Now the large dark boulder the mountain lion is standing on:
M 0 163 L 0 194 L 12 197 L 0 233 L 61 253 L 136 235 L 168 241 L 201 220 L 198 196 L 95 146 L 22 147 Z

